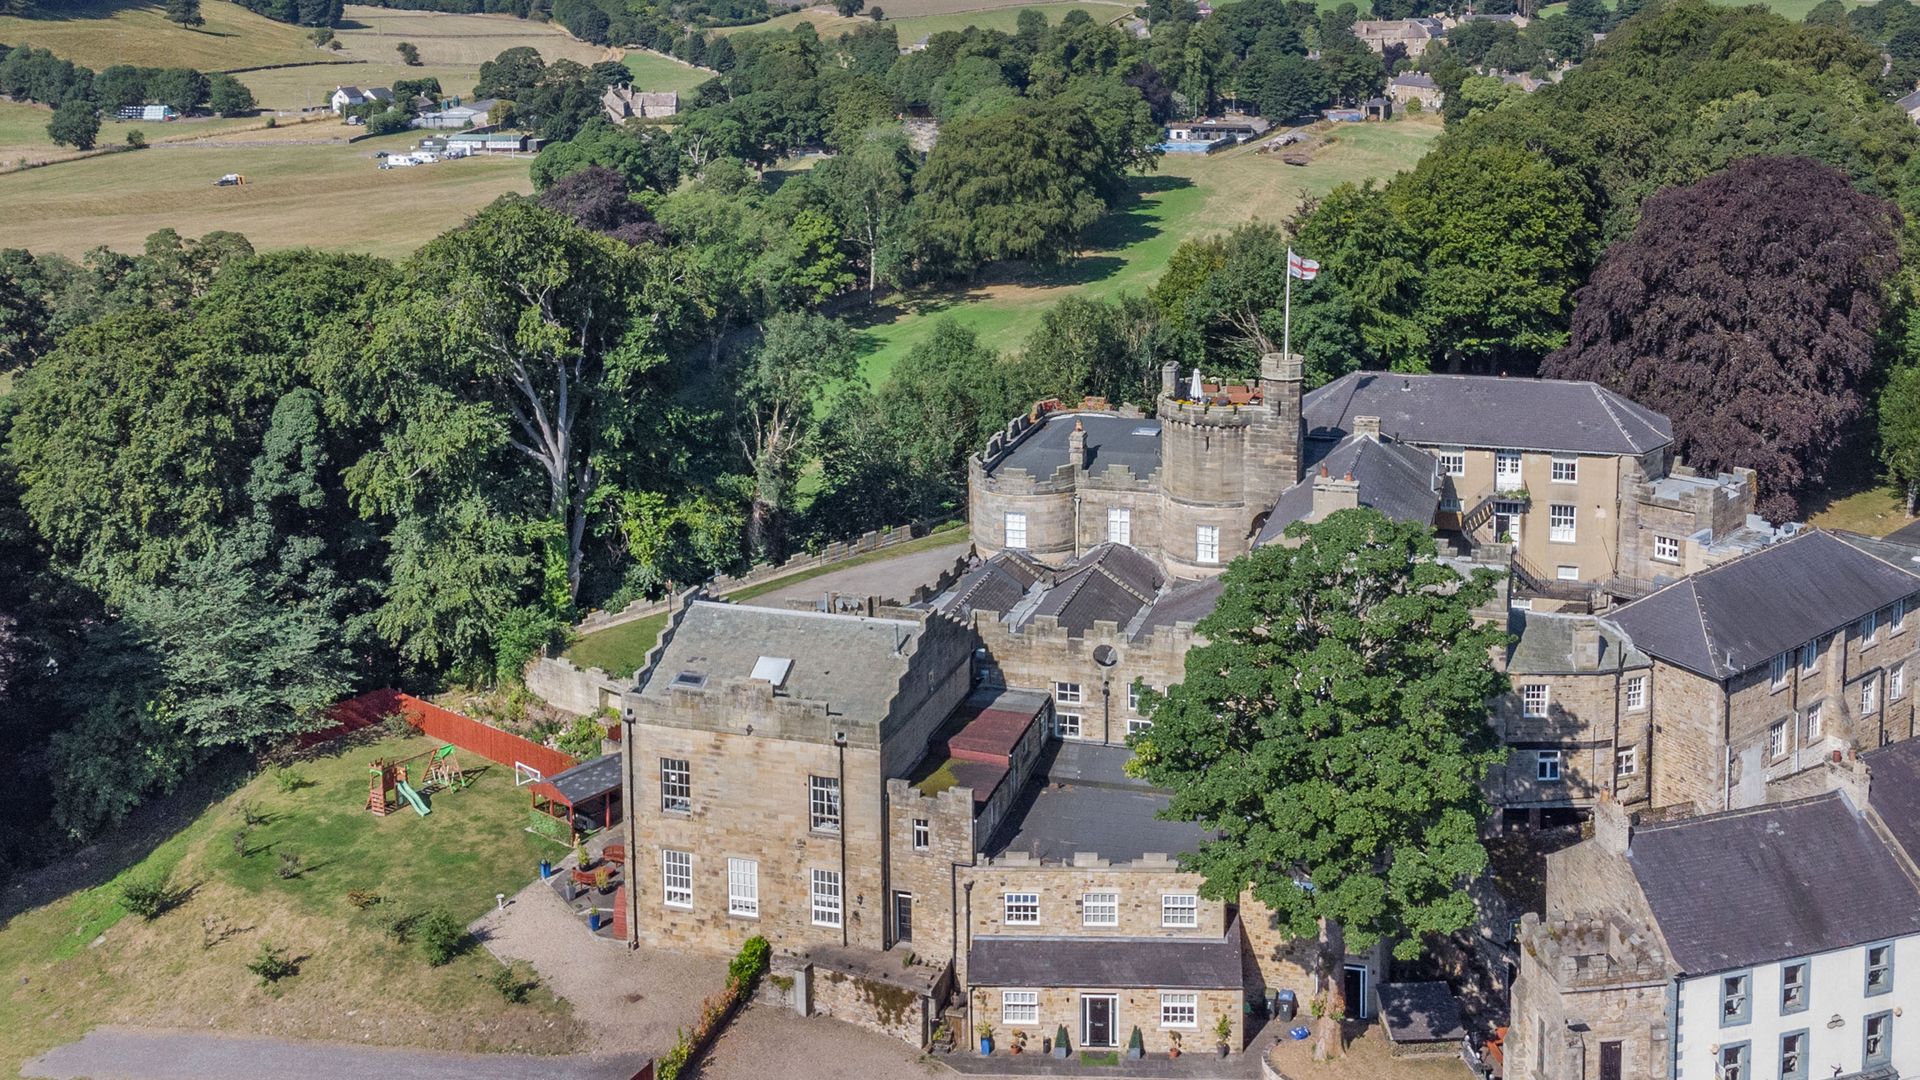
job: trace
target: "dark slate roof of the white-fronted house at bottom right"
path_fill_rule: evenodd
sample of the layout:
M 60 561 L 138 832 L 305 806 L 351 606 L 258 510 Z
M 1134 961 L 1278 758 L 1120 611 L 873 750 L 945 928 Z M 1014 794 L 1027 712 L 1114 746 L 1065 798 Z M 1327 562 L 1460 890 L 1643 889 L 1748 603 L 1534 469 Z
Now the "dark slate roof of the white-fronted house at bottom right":
M 1642 826 L 1626 861 L 1684 974 L 1920 934 L 1920 888 L 1839 792 Z

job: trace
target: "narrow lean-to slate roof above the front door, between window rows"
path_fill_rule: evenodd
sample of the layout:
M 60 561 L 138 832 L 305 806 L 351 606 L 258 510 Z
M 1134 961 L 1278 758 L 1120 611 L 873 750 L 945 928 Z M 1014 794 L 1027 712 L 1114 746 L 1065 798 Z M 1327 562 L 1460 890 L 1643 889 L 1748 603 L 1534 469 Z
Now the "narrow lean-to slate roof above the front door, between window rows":
M 973 938 L 966 967 L 975 986 L 1235 990 L 1240 920 L 1225 938 Z

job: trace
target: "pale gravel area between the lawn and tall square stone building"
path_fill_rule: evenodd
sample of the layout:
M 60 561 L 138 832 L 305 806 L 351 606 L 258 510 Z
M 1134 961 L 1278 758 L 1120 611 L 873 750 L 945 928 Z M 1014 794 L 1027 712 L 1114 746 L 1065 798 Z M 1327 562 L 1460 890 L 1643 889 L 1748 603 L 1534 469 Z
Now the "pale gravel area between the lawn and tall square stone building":
M 593 938 L 541 882 L 472 930 L 493 955 L 532 963 L 549 990 L 572 1001 L 603 1053 L 666 1053 L 680 1028 L 693 1028 L 701 999 L 726 988 L 726 957 L 628 951 L 624 942 Z

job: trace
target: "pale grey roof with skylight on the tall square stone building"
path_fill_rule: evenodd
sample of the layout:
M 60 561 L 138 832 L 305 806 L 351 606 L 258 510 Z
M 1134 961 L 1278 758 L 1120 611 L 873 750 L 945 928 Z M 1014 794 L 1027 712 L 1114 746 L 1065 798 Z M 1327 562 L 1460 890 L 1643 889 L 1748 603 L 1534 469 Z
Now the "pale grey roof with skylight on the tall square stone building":
M 893 705 L 904 673 L 904 651 L 925 630 L 908 619 L 866 619 L 822 611 L 781 611 L 735 603 L 695 601 L 659 663 L 647 673 L 643 698 L 668 700 L 668 684 L 685 671 L 707 676 L 707 690 L 745 680 L 762 655 L 791 659 L 781 686 L 787 698 L 826 701 L 833 713 L 879 721 Z

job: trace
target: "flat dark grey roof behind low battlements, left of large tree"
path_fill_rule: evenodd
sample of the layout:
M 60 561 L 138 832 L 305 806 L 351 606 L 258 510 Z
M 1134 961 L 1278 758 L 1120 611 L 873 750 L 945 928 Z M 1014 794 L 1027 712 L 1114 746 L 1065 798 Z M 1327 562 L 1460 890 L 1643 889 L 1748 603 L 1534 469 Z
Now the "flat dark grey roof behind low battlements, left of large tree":
M 1098 728 L 1100 717 L 1081 721 Z M 1117 721 L 1125 734 L 1125 721 Z M 1021 792 L 1000 828 L 981 847 L 985 855 L 1025 851 L 1037 859 L 1071 859 L 1094 851 L 1131 861 L 1148 851 L 1179 857 L 1208 838 L 1198 824 L 1160 821 L 1167 794 L 1125 774 L 1133 751 L 1125 746 L 1056 742 L 1046 776 Z

